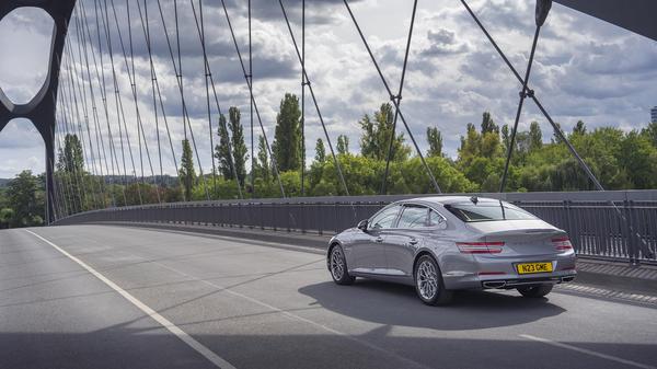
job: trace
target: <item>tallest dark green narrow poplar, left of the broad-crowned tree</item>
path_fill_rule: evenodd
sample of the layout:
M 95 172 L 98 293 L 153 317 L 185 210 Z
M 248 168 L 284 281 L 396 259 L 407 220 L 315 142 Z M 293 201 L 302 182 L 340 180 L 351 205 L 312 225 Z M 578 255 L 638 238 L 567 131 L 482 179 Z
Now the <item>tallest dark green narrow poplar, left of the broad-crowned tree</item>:
M 286 93 L 276 116 L 273 145 L 274 159 L 280 172 L 301 169 L 300 118 L 299 99 L 291 93 Z

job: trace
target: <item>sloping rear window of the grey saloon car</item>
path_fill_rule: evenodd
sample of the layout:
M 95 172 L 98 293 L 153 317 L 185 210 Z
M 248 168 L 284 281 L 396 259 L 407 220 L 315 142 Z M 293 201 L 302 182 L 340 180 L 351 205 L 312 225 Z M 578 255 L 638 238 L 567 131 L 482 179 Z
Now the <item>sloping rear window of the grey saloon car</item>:
M 445 205 L 465 222 L 537 219 L 531 214 L 503 201 L 458 203 Z

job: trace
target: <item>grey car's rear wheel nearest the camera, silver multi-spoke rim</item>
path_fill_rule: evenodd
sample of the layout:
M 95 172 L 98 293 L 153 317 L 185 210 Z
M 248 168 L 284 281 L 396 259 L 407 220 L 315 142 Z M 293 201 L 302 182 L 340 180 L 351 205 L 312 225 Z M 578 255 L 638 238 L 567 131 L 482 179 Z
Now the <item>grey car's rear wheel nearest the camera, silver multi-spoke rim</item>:
M 417 260 L 413 276 L 415 291 L 422 302 L 428 305 L 441 305 L 451 301 L 453 293 L 445 288 L 442 273 L 430 255 L 423 255 Z

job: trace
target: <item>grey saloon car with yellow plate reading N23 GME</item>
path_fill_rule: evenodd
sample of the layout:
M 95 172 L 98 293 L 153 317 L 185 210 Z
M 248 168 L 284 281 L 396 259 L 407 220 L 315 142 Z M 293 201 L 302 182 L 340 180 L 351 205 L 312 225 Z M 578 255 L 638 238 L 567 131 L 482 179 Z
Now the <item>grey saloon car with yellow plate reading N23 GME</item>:
M 331 239 L 328 272 L 415 286 L 427 304 L 461 289 L 517 289 L 544 297 L 575 279 L 566 232 L 506 201 L 476 196 L 393 203 Z

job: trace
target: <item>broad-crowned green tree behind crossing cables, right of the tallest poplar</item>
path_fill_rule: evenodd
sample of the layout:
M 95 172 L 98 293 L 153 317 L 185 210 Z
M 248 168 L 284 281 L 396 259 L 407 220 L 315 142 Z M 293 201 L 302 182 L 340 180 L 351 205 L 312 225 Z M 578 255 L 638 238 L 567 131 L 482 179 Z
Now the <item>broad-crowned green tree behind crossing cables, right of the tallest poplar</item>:
M 373 119 L 369 115 L 364 115 L 358 122 L 362 134 L 360 136 L 360 153 L 366 158 L 376 160 L 387 160 L 392 137 L 392 126 L 394 120 L 394 111 L 390 103 L 382 104 L 379 111 L 374 112 Z M 404 161 L 411 154 L 411 148 L 404 145 L 404 134 L 393 137 L 392 160 Z

